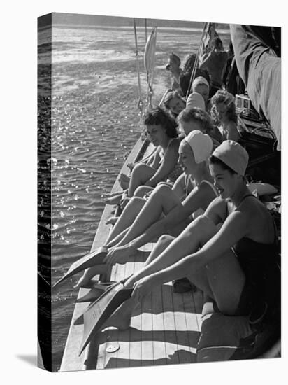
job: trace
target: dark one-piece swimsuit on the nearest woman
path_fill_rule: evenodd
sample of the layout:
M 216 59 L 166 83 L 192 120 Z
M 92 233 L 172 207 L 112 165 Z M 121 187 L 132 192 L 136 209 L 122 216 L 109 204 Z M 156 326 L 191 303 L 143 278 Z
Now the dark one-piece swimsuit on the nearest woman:
M 245 195 L 240 203 L 251 196 L 254 197 L 252 194 Z M 252 323 L 256 323 L 264 313 L 272 316 L 273 309 L 280 302 L 276 232 L 272 244 L 243 237 L 233 246 L 233 251 L 245 274 L 245 285 L 235 315 L 250 314 Z

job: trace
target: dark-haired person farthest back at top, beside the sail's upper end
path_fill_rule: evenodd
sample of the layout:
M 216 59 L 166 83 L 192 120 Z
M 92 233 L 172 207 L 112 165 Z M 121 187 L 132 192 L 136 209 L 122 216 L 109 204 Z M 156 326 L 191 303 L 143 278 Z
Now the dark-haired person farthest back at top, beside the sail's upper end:
M 207 69 L 210 74 L 210 97 L 222 88 L 223 75 L 226 68 L 228 53 L 223 48 L 221 38 L 216 37 L 211 42 L 212 50 L 201 57 L 200 69 Z

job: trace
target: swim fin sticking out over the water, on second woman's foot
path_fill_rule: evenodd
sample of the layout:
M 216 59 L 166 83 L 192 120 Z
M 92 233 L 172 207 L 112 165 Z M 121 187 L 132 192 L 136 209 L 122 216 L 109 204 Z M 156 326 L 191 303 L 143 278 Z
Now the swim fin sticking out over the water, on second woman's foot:
M 89 267 L 92 267 L 94 265 L 103 264 L 103 260 L 106 257 L 107 253 L 107 248 L 102 246 L 97 248 L 95 251 L 92 251 L 92 253 L 84 255 L 84 257 L 80 258 L 80 260 L 77 260 L 69 267 L 69 270 L 64 274 L 64 276 L 62 276 L 62 278 L 60 278 L 56 283 L 54 283 L 52 288 L 55 288 L 55 286 L 59 285 L 60 282 L 69 278 L 69 276 L 77 274 L 78 272 L 88 269 Z

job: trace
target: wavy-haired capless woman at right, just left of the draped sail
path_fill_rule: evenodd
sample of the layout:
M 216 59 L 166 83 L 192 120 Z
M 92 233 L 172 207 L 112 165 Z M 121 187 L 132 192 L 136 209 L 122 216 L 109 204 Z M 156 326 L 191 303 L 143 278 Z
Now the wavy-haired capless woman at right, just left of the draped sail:
M 237 130 L 236 107 L 232 94 L 225 90 L 218 90 L 211 98 L 210 112 L 222 134 L 222 140 L 240 140 Z

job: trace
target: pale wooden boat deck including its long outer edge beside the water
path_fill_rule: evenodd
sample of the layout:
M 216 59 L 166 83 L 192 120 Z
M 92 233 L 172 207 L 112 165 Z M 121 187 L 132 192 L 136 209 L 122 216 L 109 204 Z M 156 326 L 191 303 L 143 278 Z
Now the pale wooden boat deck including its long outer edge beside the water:
M 139 156 L 143 146 L 138 140 L 125 162 L 122 172 L 127 173 L 128 162 Z M 147 155 L 152 147 L 144 148 Z M 141 151 L 140 151 L 141 152 Z M 116 182 L 113 187 L 118 190 Z M 106 205 L 92 245 L 92 250 L 103 246 L 110 230 L 106 220 L 113 215 L 114 208 Z M 113 266 L 108 280 L 120 281 L 141 269 L 154 244 L 146 244 L 124 265 Z M 81 288 L 78 297 L 88 293 Z M 82 342 L 83 324 L 74 322 L 87 309 L 89 303 L 75 304 L 71 327 L 67 338 L 62 365 L 59 371 L 103 369 L 111 367 L 135 367 L 192 363 L 196 360 L 196 346 L 201 330 L 202 294 L 173 293 L 172 283 L 166 283 L 147 295 L 142 304 L 136 307 L 127 330 L 106 328 L 97 333 L 79 357 Z

